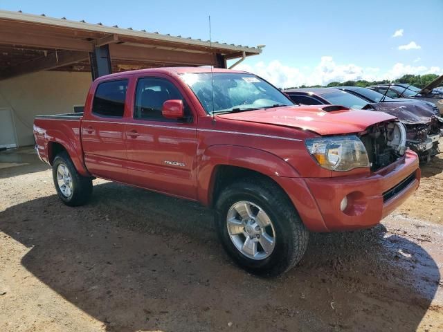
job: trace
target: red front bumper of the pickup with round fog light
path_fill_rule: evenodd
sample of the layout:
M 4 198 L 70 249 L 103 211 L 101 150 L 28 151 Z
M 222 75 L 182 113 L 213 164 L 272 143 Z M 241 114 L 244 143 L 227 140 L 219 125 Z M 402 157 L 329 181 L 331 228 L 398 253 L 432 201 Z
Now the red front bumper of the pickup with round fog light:
M 417 154 L 408 150 L 403 158 L 377 172 L 305 178 L 309 194 L 300 192 L 300 185 L 297 191 L 287 193 L 309 230 L 357 230 L 377 225 L 417 190 L 419 179 Z M 301 202 L 300 194 L 305 194 Z M 348 204 L 342 212 L 340 205 L 345 196 Z

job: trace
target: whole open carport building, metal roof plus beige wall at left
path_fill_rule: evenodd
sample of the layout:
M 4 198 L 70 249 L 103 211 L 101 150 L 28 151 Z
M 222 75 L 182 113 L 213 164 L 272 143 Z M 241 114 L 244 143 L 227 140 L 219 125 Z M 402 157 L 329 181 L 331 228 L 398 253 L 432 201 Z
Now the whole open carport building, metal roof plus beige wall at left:
M 0 147 L 32 145 L 37 114 L 81 108 L 91 77 L 158 66 L 226 68 L 229 59 L 260 53 L 248 46 L 0 10 Z

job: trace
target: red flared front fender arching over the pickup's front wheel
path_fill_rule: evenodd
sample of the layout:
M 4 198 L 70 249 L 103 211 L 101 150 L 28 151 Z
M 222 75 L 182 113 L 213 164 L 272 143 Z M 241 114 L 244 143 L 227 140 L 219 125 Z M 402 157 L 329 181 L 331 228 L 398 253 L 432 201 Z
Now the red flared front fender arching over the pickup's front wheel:
M 210 205 L 215 181 L 215 169 L 229 165 L 251 169 L 272 177 L 298 178 L 300 174 L 289 163 L 270 152 L 238 145 L 213 145 L 199 156 L 197 168 L 197 197 L 204 205 Z

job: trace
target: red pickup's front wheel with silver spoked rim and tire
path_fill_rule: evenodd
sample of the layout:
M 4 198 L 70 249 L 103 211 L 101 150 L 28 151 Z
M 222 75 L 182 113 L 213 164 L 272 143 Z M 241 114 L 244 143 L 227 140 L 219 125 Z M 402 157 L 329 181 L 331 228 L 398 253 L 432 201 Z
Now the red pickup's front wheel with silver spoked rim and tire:
M 309 232 L 291 201 L 273 181 L 248 178 L 226 187 L 216 203 L 219 238 L 234 261 L 257 275 L 293 268 Z

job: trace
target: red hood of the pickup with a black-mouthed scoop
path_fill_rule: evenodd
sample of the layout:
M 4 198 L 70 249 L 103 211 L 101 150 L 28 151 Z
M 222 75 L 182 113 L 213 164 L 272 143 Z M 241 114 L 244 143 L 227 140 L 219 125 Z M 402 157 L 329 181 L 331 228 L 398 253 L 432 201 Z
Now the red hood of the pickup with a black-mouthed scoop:
M 395 120 L 394 116 L 386 113 L 347 109 L 336 105 L 275 107 L 217 117 L 302 129 L 319 135 L 359 133 L 377 122 Z

